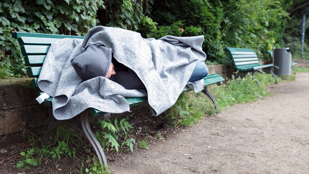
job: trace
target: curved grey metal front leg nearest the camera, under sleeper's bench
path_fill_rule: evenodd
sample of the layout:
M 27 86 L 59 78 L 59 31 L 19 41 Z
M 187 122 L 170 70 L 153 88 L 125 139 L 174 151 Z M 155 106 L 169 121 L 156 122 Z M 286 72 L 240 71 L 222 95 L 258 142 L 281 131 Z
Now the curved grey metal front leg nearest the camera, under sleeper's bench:
M 90 142 L 91 146 L 95 150 L 95 154 L 97 155 L 100 164 L 102 167 L 107 167 L 106 158 L 104 155 L 104 151 L 102 149 L 102 146 L 100 145 L 99 141 L 95 138 L 94 134 L 91 131 L 89 121 L 88 121 L 88 110 L 86 109 L 83 111 L 80 115 L 80 123 L 82 125 L 83 134 Z

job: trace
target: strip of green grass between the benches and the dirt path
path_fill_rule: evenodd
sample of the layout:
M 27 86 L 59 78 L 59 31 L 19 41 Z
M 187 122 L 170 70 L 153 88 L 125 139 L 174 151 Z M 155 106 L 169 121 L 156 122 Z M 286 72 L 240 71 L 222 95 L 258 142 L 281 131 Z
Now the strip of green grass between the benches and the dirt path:
M 266 91 L 266 87 L 275 82 L 271 74 L 255 74 L 256 81 L 248 75 L 241 79 L 226 80 L 221 86 L 213 85 L 210 92 L 217 101 L 220 110 L 226 110 L 236 103 L 253 102 L 258 98 L 263 99 L 271 95 Z M 283 81 L 293 81 L 295 75 L 277 76 L 278 83 Z M 201 118 L 216 114 L 214 104 L 204 93 L 186 92 L 181 94 L 176 104 L 164 113 L 167 123 L 177 126 L 189 126 L 196 124 Z

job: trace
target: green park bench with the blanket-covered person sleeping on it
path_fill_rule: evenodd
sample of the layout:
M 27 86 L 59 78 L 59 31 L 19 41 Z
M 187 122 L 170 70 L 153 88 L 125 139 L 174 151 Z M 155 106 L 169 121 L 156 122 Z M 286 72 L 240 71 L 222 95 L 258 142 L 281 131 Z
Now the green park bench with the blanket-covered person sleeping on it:
M 48 49 L 52 42 L 62 39 L 62 38 L 78 38 L 83 39 L 83 36 L 67 36 L 67 35 L 55 35 L 55 34 L 40 34 L 40 33 L 28 33 L 28 32 L 12 32 L 12 37 L 18 39 L 19 45 L 21 47 L 21 51 L 23 53 L 25 62 L 28 68 L 29 77 L 35 77 L 32 80 L 33 88 L 38 88 L 37 86 L 37 77 L 40 75 L 41 66 L 43 65 L 44 58 L 48 52 Z M 224 79 L 219 76 L 219 74 L 209 74 L 204 78 L 204 89 L 203 93 L 205 93 L 214 103 L 215 108 L 218 113 L 218 105 L 214 97 L 208 91 L 208 86 L 210 85 L 221 85 Z M 187 86 L 184 88 L 183 93 L 191 91 Z M 43 93 L 43 92 L 41 92 Z M 136 106 L 139 104 L 147 103 L 147 97 L 126 97 L 125 98 L 130 107 Z M 97 117 L 101 120 L 104 118 L 109 118 L 110 113 L 104 113 L 94 108 L 88 108 L 83 111 L 79 117 L 80 123 L 78 122 L 78 118 L 74 117 L 70 120 L 57 120 L 53 116 L 52 111 L 52 97 L 49 97 L 44 100 L 44 105 L 48 107 L 49 111 L 49 124 L 47 129 L 44 131 L 41 144 L 46 145 L 47 139 L 52 133 L 52 131 L 59 125 L 70 125 L 74 128 L 78 129 L 90 142 L 91 146 L 95 150 L 95 154 L 97 155 L 100 164 L 103 166 L 107 166 L 107 161 L 104 155 L 104 151 L 102 146 L 95 138 L 94 134 L 91 131 L 89 126 L 88 117 L 91 115 L 92 117 Z

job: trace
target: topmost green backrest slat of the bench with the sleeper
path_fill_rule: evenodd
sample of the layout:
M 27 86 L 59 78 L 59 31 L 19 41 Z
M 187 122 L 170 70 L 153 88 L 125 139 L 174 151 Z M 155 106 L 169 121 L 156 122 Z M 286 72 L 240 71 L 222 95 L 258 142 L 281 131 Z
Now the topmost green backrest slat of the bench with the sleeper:
M 84 39 L 84 36 L 70 36 L 70 35 L 59 35 L 59 34 L 42 34 L 42 33 L 28 33 L 28 32 L 12 32 L 12 38 L 18 39 L 19 37 L 41 37 L 41 38 L 76 38 Z

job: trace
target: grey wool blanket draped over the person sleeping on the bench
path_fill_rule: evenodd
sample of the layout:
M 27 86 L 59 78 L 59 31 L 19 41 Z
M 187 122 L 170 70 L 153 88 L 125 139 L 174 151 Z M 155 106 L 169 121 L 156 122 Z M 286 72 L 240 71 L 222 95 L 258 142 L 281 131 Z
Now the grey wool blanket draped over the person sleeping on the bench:
M 129 111 L 124 97 L 148 96 L 153 115 L 173 106 L 184 87 L 195 92 L 203 89 L 203 79 L 188 82 L 197 61 L 204 62 L 203 36 L 164 36 L 144 39 L 137 32 L 98 26 L 84 39 L 61 39 L 53 42 L 38 79 L 40 89 L 53 98 L 53 114 L 58 120 L 70 119 L 87 108 L 103 112 Z M 82 81 L 70 61 L 88 45 L 103 44 L 112 48 L 116 60 L 136 72 L 146 89 L 128 90 L 105 77 Z

